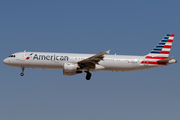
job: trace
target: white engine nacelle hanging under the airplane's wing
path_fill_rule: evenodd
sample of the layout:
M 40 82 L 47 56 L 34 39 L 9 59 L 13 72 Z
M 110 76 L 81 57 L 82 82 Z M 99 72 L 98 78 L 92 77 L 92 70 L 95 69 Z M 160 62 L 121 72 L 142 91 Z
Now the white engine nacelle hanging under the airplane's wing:
M 65 63 L 63 69 L 63 75 L 71 76 L 77 74 L 77 64 Z

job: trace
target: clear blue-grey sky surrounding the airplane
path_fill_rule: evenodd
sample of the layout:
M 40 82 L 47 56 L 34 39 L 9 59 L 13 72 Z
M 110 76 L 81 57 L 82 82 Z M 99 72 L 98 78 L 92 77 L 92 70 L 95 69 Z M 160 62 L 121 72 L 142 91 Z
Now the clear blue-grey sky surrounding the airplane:
M 3 64 L 15 52 L 146 55 L 174 33 L 179 0 L 1 0 L 0 120 L 179 120 L 179 63 L 134 72 L 64 76 Z

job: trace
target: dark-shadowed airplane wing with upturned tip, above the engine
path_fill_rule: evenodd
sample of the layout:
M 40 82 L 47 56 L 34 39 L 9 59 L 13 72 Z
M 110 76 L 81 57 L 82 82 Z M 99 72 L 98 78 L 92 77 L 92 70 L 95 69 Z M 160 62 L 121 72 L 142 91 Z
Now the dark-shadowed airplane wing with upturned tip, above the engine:
M 101 53 L 96 54 L 96 55 L 94 55 L 92 57 L 89 57 L 87 59 L 79 61 L 78 65 L 79 65 L 80 69 L 82 69 L 82 68 L 87 68 L 87 69 L 95 68 L 95 65 L 99 64 L 98 62 L 103 60 L 104 55 L 107 54 L 107 53 L 109 54 L 109 51 L 110 50 L 108 50 L 106 52 L 101 52 Z

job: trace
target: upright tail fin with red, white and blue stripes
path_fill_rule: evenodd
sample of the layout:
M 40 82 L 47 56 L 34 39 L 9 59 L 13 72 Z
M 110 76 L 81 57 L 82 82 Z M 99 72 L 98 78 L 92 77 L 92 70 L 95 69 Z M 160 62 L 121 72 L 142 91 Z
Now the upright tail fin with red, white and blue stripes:
M 174 34 L 167 34 L 156 47 L 146 55 L 146 58 L 159 57 L 160 59 L 168 58 L 173 43 Z

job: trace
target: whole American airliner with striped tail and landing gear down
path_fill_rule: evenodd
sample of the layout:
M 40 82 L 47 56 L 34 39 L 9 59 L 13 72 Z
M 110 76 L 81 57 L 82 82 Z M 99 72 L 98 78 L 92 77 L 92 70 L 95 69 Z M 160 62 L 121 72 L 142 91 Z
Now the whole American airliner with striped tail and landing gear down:
M 24 75 L 25 68 L 63 69 L 63 75 L 72 76 L 82 72 L 90 80 L 90 71 L 136 71 L 150 69 L 176 63 L 174 57 L 169 57 L 174 34 L 167 34 L 144 56 L 107 55 L 109 51 L 99 54 L 47 53 L 47 52 L 17 52 L 3 60 L 12 67 L 20 67 Z

